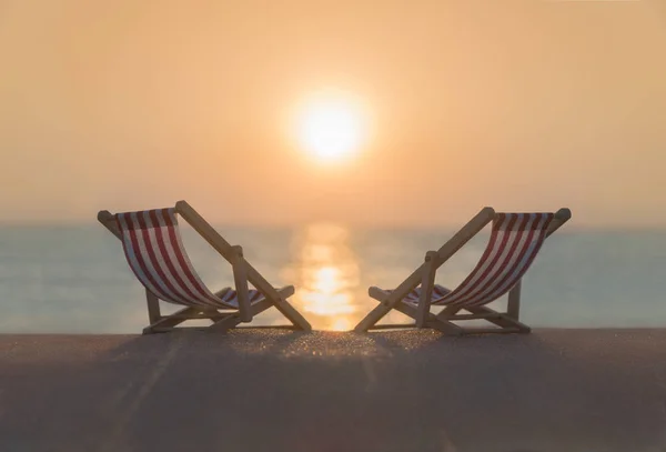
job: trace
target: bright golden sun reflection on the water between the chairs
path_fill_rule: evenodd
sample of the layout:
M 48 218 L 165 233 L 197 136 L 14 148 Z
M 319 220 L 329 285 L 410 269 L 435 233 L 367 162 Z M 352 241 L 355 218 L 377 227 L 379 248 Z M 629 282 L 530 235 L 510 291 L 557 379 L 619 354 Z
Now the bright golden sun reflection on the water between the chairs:
M 317 330 L 346 331 L 356 313 L 359 263 L 349 245 L 349 230 L 337 224 L 311 224 L 293 243 L 290 269 L 296 285 L 294 303 Z

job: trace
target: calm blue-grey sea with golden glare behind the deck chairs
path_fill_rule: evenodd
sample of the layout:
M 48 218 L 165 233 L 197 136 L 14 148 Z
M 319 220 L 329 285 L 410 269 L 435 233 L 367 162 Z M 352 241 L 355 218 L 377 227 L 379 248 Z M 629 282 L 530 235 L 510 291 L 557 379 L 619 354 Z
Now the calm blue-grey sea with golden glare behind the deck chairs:
M 454 230 L 216 229 L 274 285 L 293 284 L 293 304 L 317 330 L 351 330 L 376 305 L 370 285 L 393 288 Z M 438 271 L 453 289 L 480 259 L 480 234 Z M 183 240 L 213 290 L 231 267 L 190 229 Z M 532 327 L 666 327 L 666 230 L 569 230 L 552 235 L 523 280 L 521 319 Z M 144 291 L 120 242 L 99 224 L 0 228 L 0 333 L 140 333 Z M 502 309 L 505 299 L 491 307 Z M 164 304 L 163 312 L 176 309 Z M 386 318 L 405 320 L 400 313 Z M 255 324 L 283 324 L 271 309 Z

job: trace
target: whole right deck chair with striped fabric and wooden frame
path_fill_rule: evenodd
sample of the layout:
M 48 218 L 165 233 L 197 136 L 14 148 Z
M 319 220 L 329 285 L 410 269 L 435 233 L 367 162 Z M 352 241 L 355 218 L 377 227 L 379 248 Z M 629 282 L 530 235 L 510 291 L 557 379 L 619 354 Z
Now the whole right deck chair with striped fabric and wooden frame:
M 428 251 L 425 262 L 397 288 L 384 290 L 371 287 L 370 297 L 380 305 L 356 325 L 355 331 L 416 327 L 454 335 L 528 333 L 529 327 L 518 320 L 521 281 L 546 238 L 571 217 L 568 209 L 556 213 L 496 213 L 492 208 L 483 209 L 440 250 Z M 491 222 L 488 244 L 470 275 L 454 290 L 435 284 L 437 269 Z M 506 312 L 487 307 L 506 293 Z M 435 314 L 432 305 L 443 309 Z M 376 325 L 392 309 L 411 317 L 415 323 Z M 458 324 L 460 321 L 475 319 L 488 321 L 494 327 L 463 328 Z

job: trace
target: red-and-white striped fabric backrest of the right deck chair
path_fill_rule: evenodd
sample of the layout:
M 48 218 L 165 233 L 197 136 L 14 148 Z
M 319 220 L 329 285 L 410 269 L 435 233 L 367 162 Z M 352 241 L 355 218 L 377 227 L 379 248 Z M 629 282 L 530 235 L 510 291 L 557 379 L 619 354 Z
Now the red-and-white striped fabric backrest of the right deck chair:
M 488 244 L 470 275 L 437 304 L 481 307 L 523 278 L 546 240 L 553 213 L 496 213 Z

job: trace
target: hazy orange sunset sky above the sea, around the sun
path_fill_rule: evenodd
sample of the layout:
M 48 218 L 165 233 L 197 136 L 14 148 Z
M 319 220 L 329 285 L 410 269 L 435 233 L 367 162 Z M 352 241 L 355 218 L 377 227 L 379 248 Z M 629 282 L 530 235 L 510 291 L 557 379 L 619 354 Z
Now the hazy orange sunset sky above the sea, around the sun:
M 0 0 L 0 222 L 666 225 L 666 0 Z M 350 93 L 356 155 L 296 106 Z

